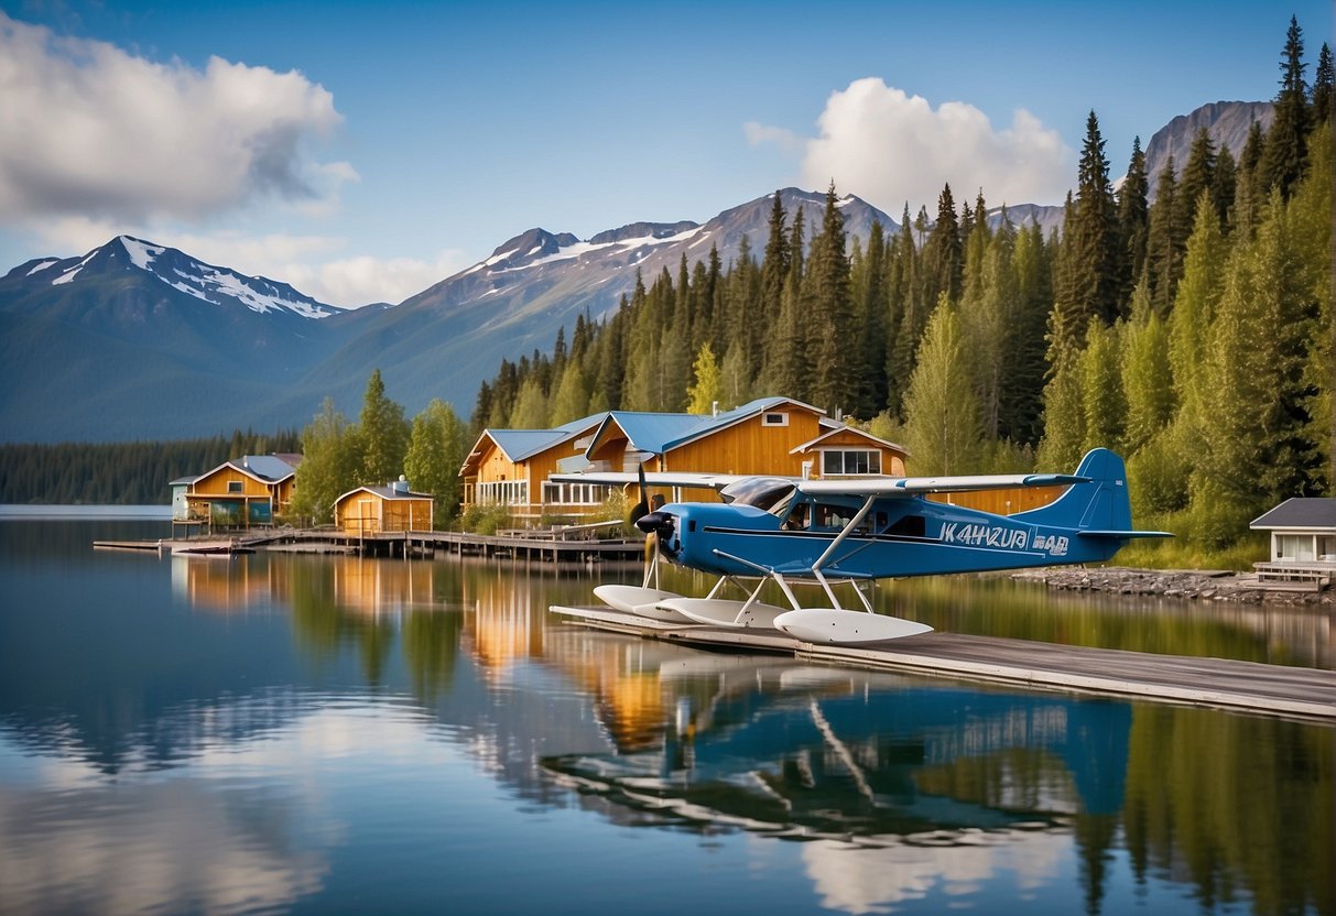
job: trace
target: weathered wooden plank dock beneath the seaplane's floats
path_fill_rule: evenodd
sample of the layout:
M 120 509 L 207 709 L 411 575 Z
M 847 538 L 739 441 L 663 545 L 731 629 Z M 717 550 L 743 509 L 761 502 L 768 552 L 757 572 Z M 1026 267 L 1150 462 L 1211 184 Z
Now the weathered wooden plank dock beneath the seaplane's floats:
M 958 633 L 925 633 L 884 642 L 835 646 L 802 642 L 772 629 L 665 624 L 612 608 L 553 605 L 549 610 L 596 629 L 703 648 L 775 652 L 831 665 L 1336 722 L 1336 672 L 1313 668 L 1160 656 Z

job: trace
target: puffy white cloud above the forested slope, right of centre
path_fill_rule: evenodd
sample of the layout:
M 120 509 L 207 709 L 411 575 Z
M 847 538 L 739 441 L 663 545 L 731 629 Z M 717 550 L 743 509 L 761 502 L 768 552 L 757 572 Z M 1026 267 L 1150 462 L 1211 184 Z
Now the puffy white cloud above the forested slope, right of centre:
M 959 206 L 982 188 L 989 206 L 1061 203 L 1070 184 L 1074 154 L 1057 131 L 1023 108 L 1011 126 L 997 130 L 987 115 L 963 101 L 938 108 L 878 77 L 832 92 L 818 119 L 819 135 L 802 144 L 802 180 L 824 188 L 831 179 L 898 216 L 926 204 L 935 215 L 942 186 L 950 183 Z M 794 135 L 759 124 L 748 139 L 792 147 Z

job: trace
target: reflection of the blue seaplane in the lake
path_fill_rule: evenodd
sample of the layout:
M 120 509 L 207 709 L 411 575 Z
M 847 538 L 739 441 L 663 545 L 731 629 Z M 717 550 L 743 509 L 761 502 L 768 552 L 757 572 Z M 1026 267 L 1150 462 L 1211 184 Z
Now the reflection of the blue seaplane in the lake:
M 1122 807 L 1128 704 L 766 661 L 663 681 L 657 745 L 544 766 L 668 823 L 859 845 L 973 844 Z

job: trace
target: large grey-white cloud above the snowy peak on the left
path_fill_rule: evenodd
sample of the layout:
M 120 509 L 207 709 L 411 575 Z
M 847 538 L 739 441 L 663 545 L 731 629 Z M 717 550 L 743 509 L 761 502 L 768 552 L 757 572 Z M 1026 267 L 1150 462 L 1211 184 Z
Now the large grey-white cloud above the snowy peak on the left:
M 341 123 L 297 72 L 203 71 L 69 39 L 0 12 L 0 219 L 195 220 L 254 199 L 329 208 L 355 178 L 317 162 Z

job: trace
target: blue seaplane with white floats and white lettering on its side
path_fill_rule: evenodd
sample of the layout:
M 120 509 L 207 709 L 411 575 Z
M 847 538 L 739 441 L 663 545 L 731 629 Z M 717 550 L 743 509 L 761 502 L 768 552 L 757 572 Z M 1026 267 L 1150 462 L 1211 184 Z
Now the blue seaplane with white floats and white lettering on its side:
M 589 471 L 553 481 L 639 485 L 632 510 L 645 533 L 641 585 L 600 585 L 615 610 L 672 624 L 770 628 L 804 642 L 895 640 L 933 628 L 878 614 L 867 584 L 883 578 L 1105 562 L 1134 538 L 1170 537 L 1132 526 L 1122 458 L 1093 449 L 1074 474 L 799 479 L 701 473 Z M 931 494 L 1014 487 L 1067 489 L 1039 509 L 999 515 L 929 499 Z M 715 490 L 719 501 L 653 505 L 651 487 Z M 655 499 L 659 502 L 659 498 Z M 661 561 L 719 580 L 704 597 L 663 590 Z M 788 608 L 760 601 L 774 582 Z M 721 597 L 729 584 L 744 600 Z M 834 585 L 852 585 L 846 608 Z M 827 606 L 807 606 L 795 585 L 815 586 Z

